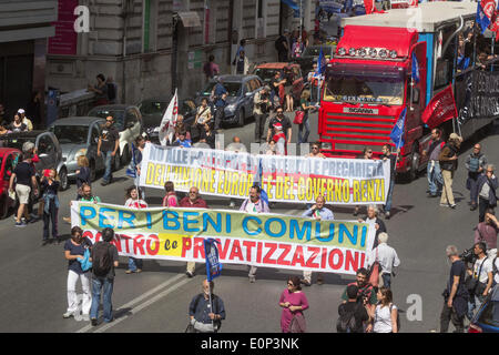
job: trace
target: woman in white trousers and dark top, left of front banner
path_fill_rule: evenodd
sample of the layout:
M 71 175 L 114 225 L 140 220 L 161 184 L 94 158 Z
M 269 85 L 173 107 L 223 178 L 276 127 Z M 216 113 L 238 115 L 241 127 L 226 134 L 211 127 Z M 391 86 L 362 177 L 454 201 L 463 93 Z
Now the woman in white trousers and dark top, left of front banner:
M 83 236 L 83 231 L 79 226 L 71 229 L 71 239 L 64 244 L 64 257 L 68 260 L 68 311 L 62 315 L 63 318 L 80 317 L 79 301 L 77 294 L 77 282 L 80 278 L 83 290 L 82 316 L 83 321 L 90 321 L 90 306 L 92 305 L 92 293 L 90 291 L 90 270 L 91 264 L 85 266 L 79 260 L 83 260 L 85 253 L 90 256 L 92 242 Z

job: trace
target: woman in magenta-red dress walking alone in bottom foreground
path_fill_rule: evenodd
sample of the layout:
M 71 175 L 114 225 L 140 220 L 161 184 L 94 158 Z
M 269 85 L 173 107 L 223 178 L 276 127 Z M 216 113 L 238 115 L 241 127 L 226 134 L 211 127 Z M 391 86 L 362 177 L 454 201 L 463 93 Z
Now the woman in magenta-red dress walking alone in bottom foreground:
M 303 311 L 308 310 L 308 301 L 302 292 L 298 276 L 287 278 L 287 288 L 281 294 L 279 306 L 283 307 L 281 331 L 283 333 L 305 333 L 306 323 Z

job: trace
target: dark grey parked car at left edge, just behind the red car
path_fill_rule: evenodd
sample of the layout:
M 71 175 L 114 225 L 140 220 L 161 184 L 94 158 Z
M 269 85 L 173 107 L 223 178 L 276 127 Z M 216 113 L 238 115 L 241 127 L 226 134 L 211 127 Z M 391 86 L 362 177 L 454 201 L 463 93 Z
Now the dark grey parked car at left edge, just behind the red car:
M 40 161 L 34 164 L 37 178 L 43 176 L 43 170 L 55 169 L 61 180 L 60 190 L 65 190 L 69 186 L 68 168 L 62 159 L 62 150 L 59 140 L 52 132 L 49 131 L 29 131 L 19 133 L 9 133 L 2 135 L 0 139 L 1 146 L 14 148 L 22 151 L 22 144 L 26 142 L 34 143 Z

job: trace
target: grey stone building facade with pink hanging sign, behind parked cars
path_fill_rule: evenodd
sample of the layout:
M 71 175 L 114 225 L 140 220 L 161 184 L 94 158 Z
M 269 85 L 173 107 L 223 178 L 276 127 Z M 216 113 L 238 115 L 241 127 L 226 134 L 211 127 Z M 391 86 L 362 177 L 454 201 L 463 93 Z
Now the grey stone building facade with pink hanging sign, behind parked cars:
M 64 32 L 58 21 L 49 45 L 48 85 L 61 92 L 95 83 L 103 73 L 118 83 L 119 102 L 193 97 L 205 84 L 203 64 L 215 57 L 222 73 L 241 39 L 251 63 L 276 61 L 274 41 L 301 19 L 281 0 L 59 0 L 89 9 L 88 32 Z M 297 1 L 299 3 L 299 0 Z M 302 0 L 305 29 L 313 29 L 315 1 Z M 83 16 L 72 21 L 84 22 Z M 84 26 L 83 26 L 84 28 Z

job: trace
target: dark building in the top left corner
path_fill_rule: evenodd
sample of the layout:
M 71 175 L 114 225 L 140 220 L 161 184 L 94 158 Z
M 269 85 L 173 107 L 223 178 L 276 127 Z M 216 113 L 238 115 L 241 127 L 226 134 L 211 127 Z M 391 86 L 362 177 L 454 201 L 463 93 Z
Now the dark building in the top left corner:
M 0 0 L 0 103 L 9 121 L 45 90 L 47 42 L 57 19 L 57 0 Z

